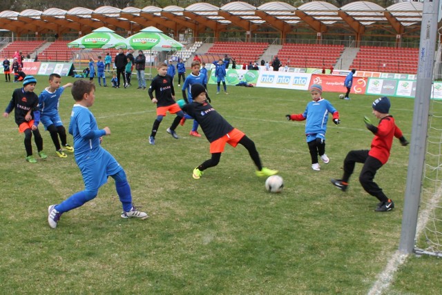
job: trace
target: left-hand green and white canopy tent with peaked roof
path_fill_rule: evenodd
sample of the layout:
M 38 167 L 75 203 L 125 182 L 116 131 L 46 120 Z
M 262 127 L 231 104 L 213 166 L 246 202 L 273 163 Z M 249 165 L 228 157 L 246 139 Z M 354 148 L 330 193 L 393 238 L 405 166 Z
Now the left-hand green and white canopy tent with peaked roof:
M 93 30 L 90 34 L 68 43 L 69 48 L 128 48 L 124 37 L 116 34 L 113 30 L 102 27 Z

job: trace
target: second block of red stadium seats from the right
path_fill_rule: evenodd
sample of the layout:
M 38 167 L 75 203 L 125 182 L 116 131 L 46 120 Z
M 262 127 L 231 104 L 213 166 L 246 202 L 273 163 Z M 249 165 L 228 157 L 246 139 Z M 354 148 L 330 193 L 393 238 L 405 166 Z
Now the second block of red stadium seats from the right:
M 278 51 L 278 59 L 294 68 L 330 68 L 343 51 L 344 45 L 286 43 Z

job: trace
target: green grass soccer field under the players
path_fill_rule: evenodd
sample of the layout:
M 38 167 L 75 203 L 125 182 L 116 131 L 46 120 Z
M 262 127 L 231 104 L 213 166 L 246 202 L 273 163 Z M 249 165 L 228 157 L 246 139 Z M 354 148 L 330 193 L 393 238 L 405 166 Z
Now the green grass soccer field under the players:
M 37 94 L 47 79 L 37 77 Z M 74 79 L 64 77 L 62 85 L 68 81 Z M 4 110 L 21 84 L 0 84 Z M 109 179 L 97 198 L 61 216 L 51 230 L 48 205 L 83 189 L 73 154 L 59 159 L 40 125 L 48 159 L 37 156 L 37 164 L 27 163 L 13 115 L 1 118 L 1 293 L 367 294 L 372 289 L 398 248 L 409 149 L 395 139 L 390 161 L 376 174 L 394 200 L 392 212 L 374 212 L 378 201 L 358 183 L 361 165 L 347 192 L 329 179 L 342 175 L 349 150 L 369 148 L 373 135 L 363 116 L 376 121 L 371 114 L 376 96 L 344 101 L 338 93 L 323 93 L 342 123 L 329 120 L 330 163 L 317 172 L 311 170 L 305 122 L 285 119 L 305 110 L 308 92 L 229 87 L 224 95 L 209 85 L 211 105 L 256 143 L 264 166 L 284 178 L 283 192 L 269 194 L 240 145 L 227 146 L 217 167 L 192 179 L 193 168 L 210 154 L 204 136 L 189 136 L 191 121 L 177 128 L 176 140 L 166 132 L 173 116 L 166 116 L 156 144 L 149 145 L 155 105 L 146 90 L 135 88 L 97 86 L 90 110 L 100 128 L 111 129 L 102 145 L 126 170 L 135 205 L 150 215 L 145 221 L 120 218 Z M 181 91 L 176 93 L 181 98 Z M 391 101 L 390 113 L 410 140 L 414 101 Z M 73 103 L 68 89 L 60 103 L 66 128 Z M 32 148 L 37 155 L 33 140 Z M 434 257 L 410 256 L 385 294 L 439 294 L 440 265 Z

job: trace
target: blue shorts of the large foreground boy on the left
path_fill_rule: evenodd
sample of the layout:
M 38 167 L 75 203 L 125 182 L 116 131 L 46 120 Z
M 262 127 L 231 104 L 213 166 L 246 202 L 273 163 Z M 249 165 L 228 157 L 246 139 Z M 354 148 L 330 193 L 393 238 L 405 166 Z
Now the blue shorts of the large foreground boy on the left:
M 117 160 L 104 148 L 100 148 L 99 154 L 91 154 L 84 157 L 77 165 L 83 176 L 86 190 L 98 190 L 108 182 L 108 176 L 115 175 L 123 170 Z

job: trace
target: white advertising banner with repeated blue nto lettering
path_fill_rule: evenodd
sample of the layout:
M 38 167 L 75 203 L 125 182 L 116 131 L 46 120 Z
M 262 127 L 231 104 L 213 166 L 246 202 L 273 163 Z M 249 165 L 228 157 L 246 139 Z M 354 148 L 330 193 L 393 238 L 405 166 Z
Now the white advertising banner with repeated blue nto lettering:
M 308 90 L 311 74 L 294 72 L 260 72 L 258 87 Z

